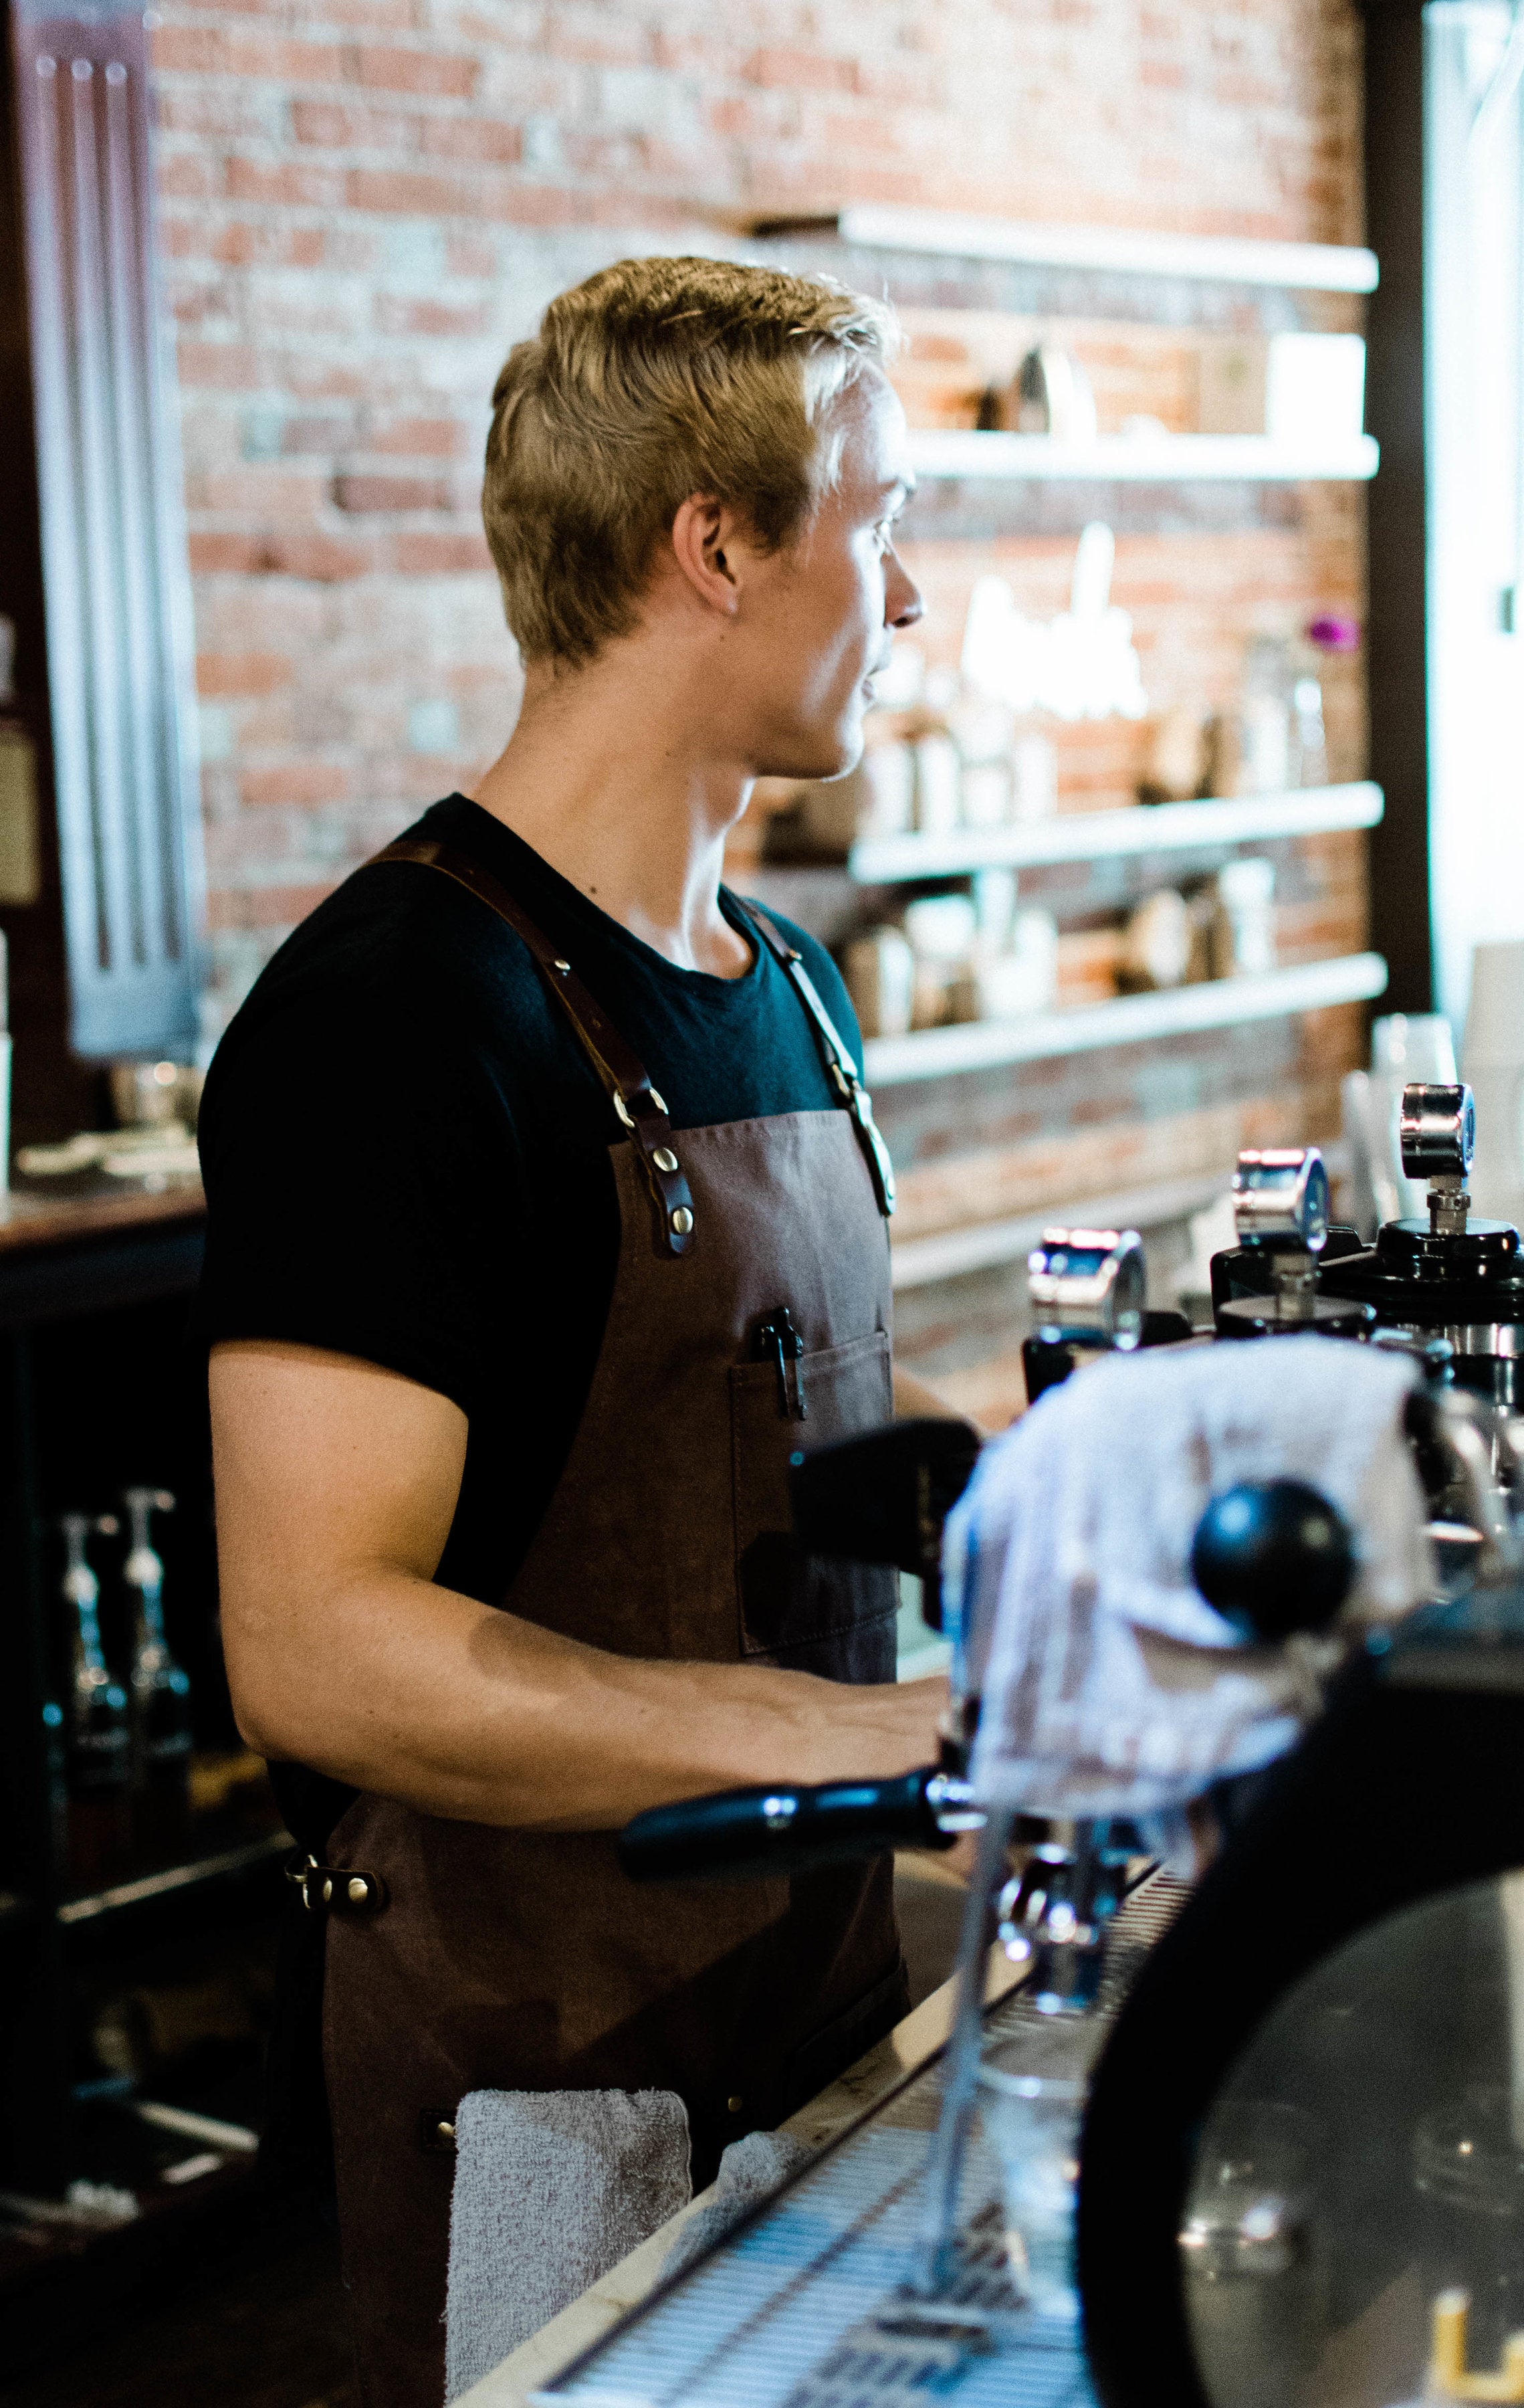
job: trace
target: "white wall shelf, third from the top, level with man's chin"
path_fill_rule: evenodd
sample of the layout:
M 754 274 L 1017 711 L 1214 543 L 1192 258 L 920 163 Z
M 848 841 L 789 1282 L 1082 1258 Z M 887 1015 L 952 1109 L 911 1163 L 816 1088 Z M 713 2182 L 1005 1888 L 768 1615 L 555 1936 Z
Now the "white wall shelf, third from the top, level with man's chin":
M 1310 785 L 1288 795 L 1151 802 L 1124 811 L 1057 811 L 1014 828 L 958 828 L 953 836 L 860 836 L 847 872 L 860 886 L 900 879 L 951 879 L 973 869 L 1030 869 L 1042 862 L 1098 862 L 1129 852 L 1194 852 L 1206 845 L 1254 845 L 1286 836 L 1375 828 L 1382 790 Z

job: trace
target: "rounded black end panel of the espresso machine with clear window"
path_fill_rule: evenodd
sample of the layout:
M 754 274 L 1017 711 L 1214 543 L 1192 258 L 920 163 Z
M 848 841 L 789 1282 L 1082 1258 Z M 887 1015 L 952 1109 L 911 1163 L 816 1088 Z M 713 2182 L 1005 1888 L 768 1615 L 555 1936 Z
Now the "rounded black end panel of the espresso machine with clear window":
M 1490 1548 L 1346 1664 L 1107 2032 L 1076 2213 L 1105 2408 L 1524 2401 L 1522 1760 Z

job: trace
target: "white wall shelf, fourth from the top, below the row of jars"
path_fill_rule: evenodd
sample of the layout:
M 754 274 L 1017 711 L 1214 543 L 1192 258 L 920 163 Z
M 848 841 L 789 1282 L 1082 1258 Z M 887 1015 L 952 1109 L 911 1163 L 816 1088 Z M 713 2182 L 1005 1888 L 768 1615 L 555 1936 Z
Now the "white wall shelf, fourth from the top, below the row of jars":
M 1189 1035 L 1201 1028 L 1240 1028 L 1247 1021 L 1278 1021 L 1290 1011 L 1363 1004 L 1384 987 L 1387 963 L 1380 954 L 1343 954 L 1336 961 L 1303 961 L 1262 978 L 1213 978 L 1199 987 L 1117 995 L 1112 1002 L 1076 1004 L 1069 1011 L 917 1028 L 908 1038 L 869 1038 L 867 1084 L 908 1086 L 912 1079 L 951 1079 L 956 1072 L 1045 1062 L 1098 1052 L 1103 1045 L 1144 1045 L 1148 1038 Z

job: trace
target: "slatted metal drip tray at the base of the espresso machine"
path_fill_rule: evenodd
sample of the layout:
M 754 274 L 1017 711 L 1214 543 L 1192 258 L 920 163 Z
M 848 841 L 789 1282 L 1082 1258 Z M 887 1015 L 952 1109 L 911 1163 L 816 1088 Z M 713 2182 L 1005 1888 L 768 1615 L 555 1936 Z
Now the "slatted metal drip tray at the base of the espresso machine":
M 1055 2047 L 1083 2068 L 1127 1984 L 1187 1890 L 1153 1873 L 1112 1926 L 1093 2015 L 1055 2020 L 1021 1991 L 987 2015 L 1009 2049 Z M 937 2126 L 939 2061 L 826 2148 L 705 2259 L 657 2290 L 534 2394 L 544 2408 L 1093 2408 L 1079 2331 L 1016 2297 L 999 2170 L 975 2133 L 961 2186 L 956 2271 L 937 2300 L 908 2290 L 920 2184 Z

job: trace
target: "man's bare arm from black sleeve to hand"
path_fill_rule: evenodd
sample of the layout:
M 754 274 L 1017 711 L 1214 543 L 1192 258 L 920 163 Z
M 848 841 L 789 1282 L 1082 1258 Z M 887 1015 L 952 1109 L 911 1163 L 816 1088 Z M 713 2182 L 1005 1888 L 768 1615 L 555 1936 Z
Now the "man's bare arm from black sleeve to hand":
M 445 1397 L 352 1356 L 212 1348 L 221 1633 L 260 1753 L 426 1813 L 539 1830 L 937 1755 L 941 1681 L 652 1664 L 441 1589 L 465 1433 Z

